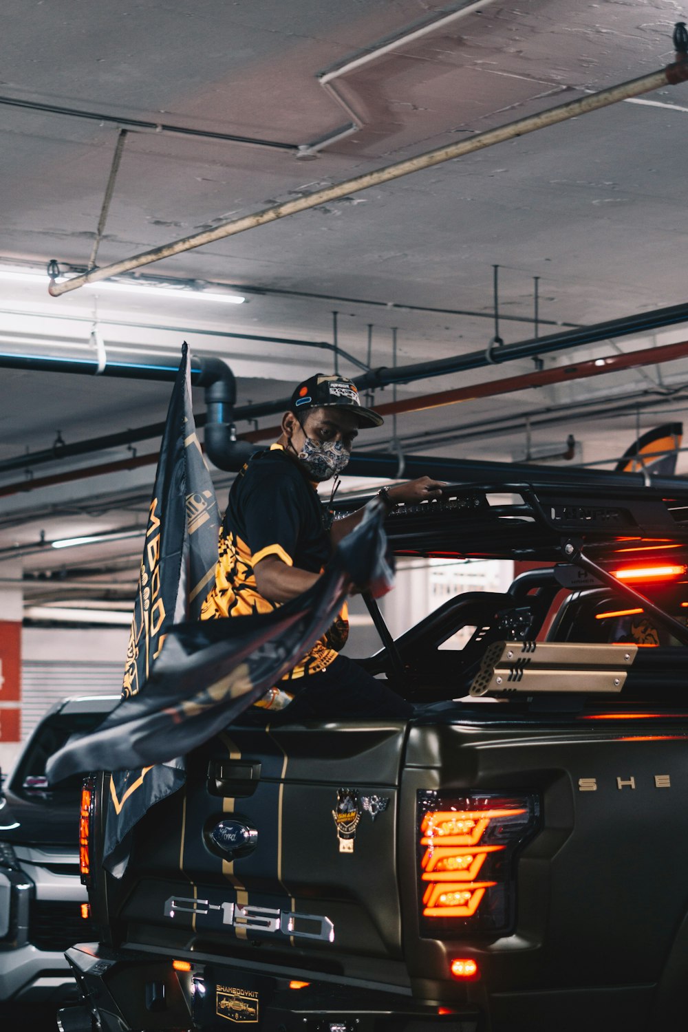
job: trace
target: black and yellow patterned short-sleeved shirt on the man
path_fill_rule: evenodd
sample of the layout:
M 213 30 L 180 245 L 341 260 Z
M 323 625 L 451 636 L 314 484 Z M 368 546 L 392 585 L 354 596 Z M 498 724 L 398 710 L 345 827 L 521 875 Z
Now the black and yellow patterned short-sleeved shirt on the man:
M 215 586 L 201 619 L 269 613 L 279 603 L 264 599 L 254 567 L 268 555 L 309 573 L 320 573 L 332 553 L 315 485 L 281 445 L 253 455 L 229 492 L 220 530 Z M 349 633 L 347 608 L 329 631 L 283 680 L 328 667 Z

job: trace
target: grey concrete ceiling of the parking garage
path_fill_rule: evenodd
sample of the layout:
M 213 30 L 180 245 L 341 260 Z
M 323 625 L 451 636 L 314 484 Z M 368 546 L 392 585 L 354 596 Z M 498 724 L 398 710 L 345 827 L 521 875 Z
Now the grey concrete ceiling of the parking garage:
M 461 7 L 464 17 L 403 41 Z M 673 60 L 673 27 L 685 17 L 671 0 L 6 0 L 3 12 L 0 272 L 39 271 L 52 258 L 65 270 L 87 265 L 120 125 L 130 131 L 101 265 L 653 71 Z M 331 90 L 321 85 L 320 74 L 394 40 Z M 358 131 L 322 147 L 316 160 L 295 156 L 298 147 L 334 138 L 350 111 Z M 136 131 L 131 120 L 198 135 Z M 97 319 L 106 347 L 176 352 L 186 338 L 192 350 L 226 357 L 245 404 L 284 396 L 302 376 L 331 365 L 326 351 L 260 338 L 329 342 L 333 310 L 341 347 L 362 361 L 372 324 L 373 365 L 391 363 L 393 327 L 399 363 L 487 347 L 494 264 L 507 344 L 533 335 L 535 277 L 540 334 L 681 303 L 687 128 L 688 86 L 667 87 L 143 269 L 243 289 L 240 307 L 96 286 L 53 299 L 43 280 L 0 278 L 0 352 L 86 354 Z M 687 337 L 683 326 L 618 346 Z M 611 353 L 612 343 L 600 344 L 547 363 Z M 341 368 L 356 372 L 347 361 Z M 531 368 L 515 362 L 506 373 L 479 369 L 399 392 Z M 688 364 L 674 362 L 400 417 L 397 432 L 424 453 L 520 459 L 529 416 L 532 454 L 563 447 L 574 433 L 577 460 L 590 462 L 623 452 L 638 427 L 682 419 L 684 384 Z M 0 462 L 52 447 L 58 430 L 72 443 L 162 420 L 168 395 L 167 384 L 3 369 Z M 661 405 L 605 419 L 609 405 L 626 395 Z M 381 399 L 391 400 L 391 391 Z M 569 408 L 595 399 L 594 418 Z M 200 412 L 202 393 L 197 400 Z M 501 428 L 490 425 L 507 418 Z M 433 446 L 424 436 L 437 432 L 443 443 Z M 389 438 L 386 426 L 369 441 L 387 447 Z M 58 476 L 126 454 L 109 450 L 32 472 Z M 688 470 L 683 457 L 679 469 Z M 148 466 L 1 497 L 0 550 L 36 543 L 41 529 L 50 541 L 142 522 L 152 476 Z M 0 490 L 24 477 L 0 473 Z M 223 491 L 227 482 L 219 478 Z M 138 548 L 122 542 L 69 558 L 95 574 L 122 565 L 129 584 L 136 560 L 126 556 Z M 23 562 L 27 571 L 59 570 L 65 556 L 37 549 Z

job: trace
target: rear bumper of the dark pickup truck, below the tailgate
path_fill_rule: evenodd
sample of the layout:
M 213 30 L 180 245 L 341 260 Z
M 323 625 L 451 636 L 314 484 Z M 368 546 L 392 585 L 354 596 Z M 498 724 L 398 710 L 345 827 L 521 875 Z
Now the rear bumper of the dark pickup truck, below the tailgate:
M 191 963 L 97 944 L 66 954 L 85 1004 L 103 1032 L 131 1029 L 247 1032 L 478 1032 L 474 1009 L 329 982 L 295 982 L 229 963 Z

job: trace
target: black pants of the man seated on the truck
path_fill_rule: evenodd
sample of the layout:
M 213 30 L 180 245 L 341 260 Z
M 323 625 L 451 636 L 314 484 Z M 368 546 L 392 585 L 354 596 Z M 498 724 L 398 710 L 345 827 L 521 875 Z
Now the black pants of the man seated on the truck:
M 414 711 L 385 681 L 375 680 L 345 655 L 338 655 L 320 674 L 306 675 L 302 685 L 286 709 L 271 715 L 270 723 L 355 717 L 403 719 Z

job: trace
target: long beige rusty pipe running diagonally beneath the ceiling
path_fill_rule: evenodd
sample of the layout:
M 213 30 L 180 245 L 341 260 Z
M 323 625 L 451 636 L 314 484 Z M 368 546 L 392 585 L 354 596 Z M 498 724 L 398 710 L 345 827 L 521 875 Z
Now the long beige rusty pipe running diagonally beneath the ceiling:
M 509 125 L 479 133 L 470 139 L 459 140 L 448 147 L 436 148 L 425 154 L 417 155 L 415 158 L 407 158 L 404 161 L 395 162 L 392 165 L 387 165 L 372 172 L 366 172 L 352 180 L 346 180 L 343 183 L 317 190 L 307 196 L 297 197 L 282 204 L 273 204 L 271 207 L 263 208 L 261 212 L 256 212 L 240 219 L 230 219 L 220 222 L 214 229 L 185 236 L 171 244 L 153 248 L 151 251 L 143 251 L 140 254 L 133 255 L 131 258 L 125 258 L 122 261 L 113 262 L 111 265 L 105 265 L 102 268 L 94 269 L 83 276 L 74 277 L 65 283 L 54 282 L 48 287 L 48 291 L 54 297 L 59 297 L 61 294 L 66 294 L 70 290 L 76 290 L 87 283 L 107 280 L 112 276 L 119 276 L 122 272 L 140 268 L 142 265 L 150 265 L 153 262 L 160 261 L 162 258 L 170 258 L 172 255 L 192 251 L 194 248 L 225 239 L 236 233 L 245 232 L 248 229 L 255 229 L 258 226 L 266 225 L 277 219 L 284 219 L 290 215 L 296 215 L 298 212 L 305 212 L 320 204 L 336 200 L 339 197 L 349 196 L 360 190 L 367 190 L 383 183 L 390 183 L 412 172 L 431 168 L 445 161 L 452 161 L 463 155 L 472 154 L 487 147 L 493 147 L 495 143 L 514 139 L 516 136 L 523 136 L 526 133 L 535 132 L 537 129 L 566 122 L 568 119 L 578 118 L 581 115 L 597 110 L 600 107 L 607 107 L 610 104 L 618 103 L 620 100 L 626 100 L 628 97 L 635 97 L 638 94 L 649 93 L 652 90 L 658 90 L 667 85 L 687 80 L 688 60 L 682 57 L 680 61 L 659 71 L 651 72 L 649 75 L 642 75 L 640 78 L 621 83 L 607 90 L 600 90 L 598 93 L 588 94 L 579 100 L 571 100 L 566 104 L 552 107 L 547 111 L 518 119 Z

